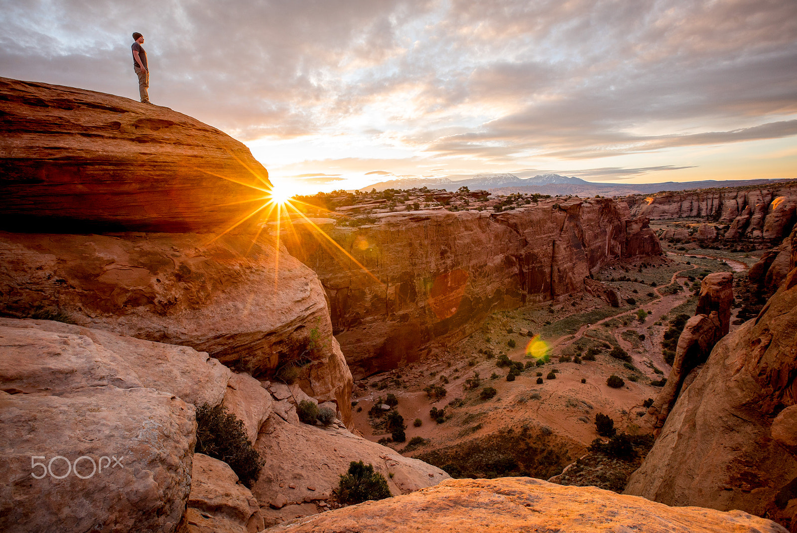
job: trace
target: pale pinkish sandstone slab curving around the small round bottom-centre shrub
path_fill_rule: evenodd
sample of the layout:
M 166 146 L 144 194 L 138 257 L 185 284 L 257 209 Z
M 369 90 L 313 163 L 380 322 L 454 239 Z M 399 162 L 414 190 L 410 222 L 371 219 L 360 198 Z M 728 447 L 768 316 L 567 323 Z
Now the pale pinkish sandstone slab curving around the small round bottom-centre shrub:
M 269 504 L 281 508 L 332 496 L 340 475 L 347 472 L 351 461 L 373 464 L 375 470 L 385 476 L 395 495 L 449 478 L 439 468 L 400 456 L 391 448 L 344 429 L 289 424 L 280 417 L 270 417 L 266 421 L 256 448 L 266 462 L 252 493 L 263 507 L 266 525 L 281 518 L 280 514 L 265 509 Z M 290 488 L 289 484 L 296 488 Z

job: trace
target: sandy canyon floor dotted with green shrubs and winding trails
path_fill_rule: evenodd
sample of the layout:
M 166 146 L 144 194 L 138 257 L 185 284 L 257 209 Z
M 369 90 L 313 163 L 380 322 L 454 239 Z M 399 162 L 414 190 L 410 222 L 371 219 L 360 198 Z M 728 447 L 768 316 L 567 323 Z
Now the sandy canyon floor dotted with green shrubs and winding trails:
M 655 227 L 682 223 L 659 220 Z M 705 274 L 744 271 L 763 254 L 695 243 L 662 245 L 665 264 L 617 264 L 595 276 L 617 292 L 618 307 L 582 293 L 497 311 L 481 330 L 455 345 L 438 346 L 422 362 L 356 381 L 355 427 L 367 439 L 387 440 L 398 452 L 445 467 L 454 477 L 520 474 L 543 479 L 583 456 L 598 437 L 597 413 L 611 417 L 618 432 L 652 432 L 643 402 L 656 397 L 657 384 L 669 375 L 662 338 L 670 320 L 694 314 Z M 640 310 L 647 316 L 640 318 Z M 732 311 L 732 319 L 739 310 Z M 630 361 L 611 357 L 615 347 L 625 350 Z M 595 361 L 583 360 L 590 351 Z M 497 365 L 502 354 L 524 365 L 514 381 L 507 380 L 507 368 Z M 579 364 L 574 362 L 578 354 Z M 538 365 L 540 357 L 548 361 Z M 556 378 L 548 379 L 550 373 Z M 622 377 L 622 387 L 607 385 L 613 374 Z M 445 396 L 430 397 L 424 390 L 429 385 L 444 388 Z M 495 396 L 484 399 L 485 387 L 495 389 Z M 398 400 L 394 409 L 406 424 L 401 443 L 390 442 L 384 417 L 371 416 L 388 394 Z M 441 423 L 430 417 L 433 408 L 444 411 Z

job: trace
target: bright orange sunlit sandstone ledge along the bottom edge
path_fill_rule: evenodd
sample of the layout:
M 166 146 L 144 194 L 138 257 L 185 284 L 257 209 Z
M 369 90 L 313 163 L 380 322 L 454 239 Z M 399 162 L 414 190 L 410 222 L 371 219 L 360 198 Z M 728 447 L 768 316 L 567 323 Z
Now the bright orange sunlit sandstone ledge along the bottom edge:
M 741 511 L 667 507 L 595 487 L 563 487 L 528 477 L 505 477 L 446 480 L 412 494 L 296 519 L 266 531 L 785 533 L 786 530 L 768 519 Z

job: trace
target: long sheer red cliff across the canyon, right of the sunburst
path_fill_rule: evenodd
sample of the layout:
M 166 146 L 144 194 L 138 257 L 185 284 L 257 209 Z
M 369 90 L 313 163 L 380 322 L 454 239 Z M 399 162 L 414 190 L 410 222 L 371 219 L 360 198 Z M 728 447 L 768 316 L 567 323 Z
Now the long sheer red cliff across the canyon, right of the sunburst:
M 583 290 L 591 271 L 614 260 L 661 254 L 647 219 L 630 219 L 611 199 L 379 217 L 356 229 L 324 227 L 368 272 L 316 233 L 284 237 L 321 279 L 336 338 L 360 376 L 464 338 L 493 310 Z

